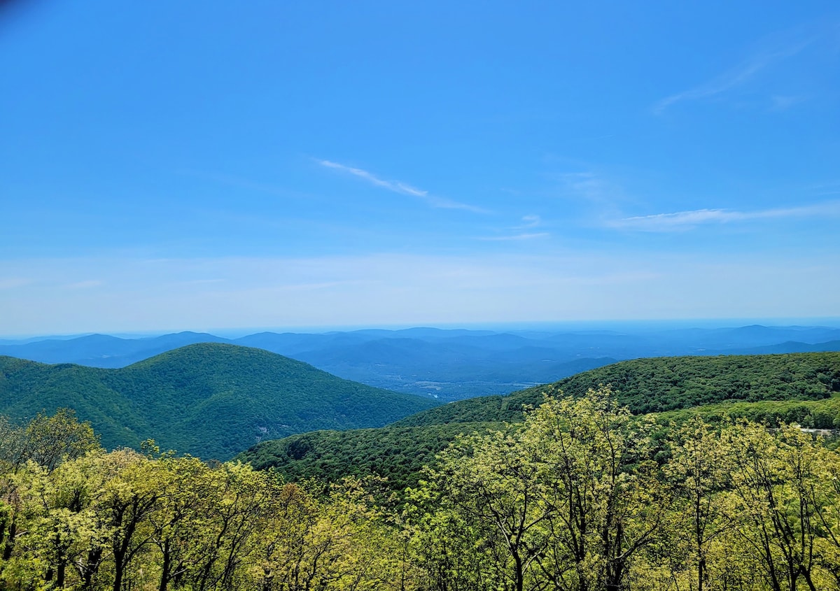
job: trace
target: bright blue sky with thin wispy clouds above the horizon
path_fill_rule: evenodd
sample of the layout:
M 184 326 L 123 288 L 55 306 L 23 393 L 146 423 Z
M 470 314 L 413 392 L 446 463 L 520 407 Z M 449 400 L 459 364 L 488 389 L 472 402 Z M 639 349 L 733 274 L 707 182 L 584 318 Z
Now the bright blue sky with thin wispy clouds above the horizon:
M 0 334 L 840 316 L 836 2 L 0 5 Z

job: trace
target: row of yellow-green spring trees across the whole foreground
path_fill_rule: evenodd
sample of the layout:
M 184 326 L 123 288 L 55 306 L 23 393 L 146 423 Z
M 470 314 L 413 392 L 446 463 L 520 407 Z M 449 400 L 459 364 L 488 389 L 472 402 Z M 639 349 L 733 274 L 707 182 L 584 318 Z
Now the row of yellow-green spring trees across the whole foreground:
M 840 455 L 796 426 L 652 437 L 606 388 L 459 437 L 404 491 L 0 423 L 0 582 L 35 589 L 840 589 Z

